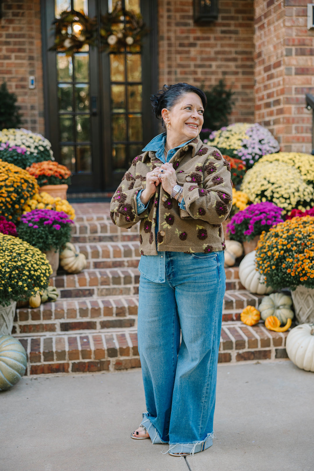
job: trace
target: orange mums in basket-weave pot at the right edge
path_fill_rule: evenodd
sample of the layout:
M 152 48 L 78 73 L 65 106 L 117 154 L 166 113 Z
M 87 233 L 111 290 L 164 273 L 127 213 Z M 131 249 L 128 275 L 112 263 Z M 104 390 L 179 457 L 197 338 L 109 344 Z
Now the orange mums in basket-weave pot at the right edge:
M 314 218 L 287 219 L 264 232 L 256 263 L 267 286 L 290 288 L 298 322 L 314 322 Z

